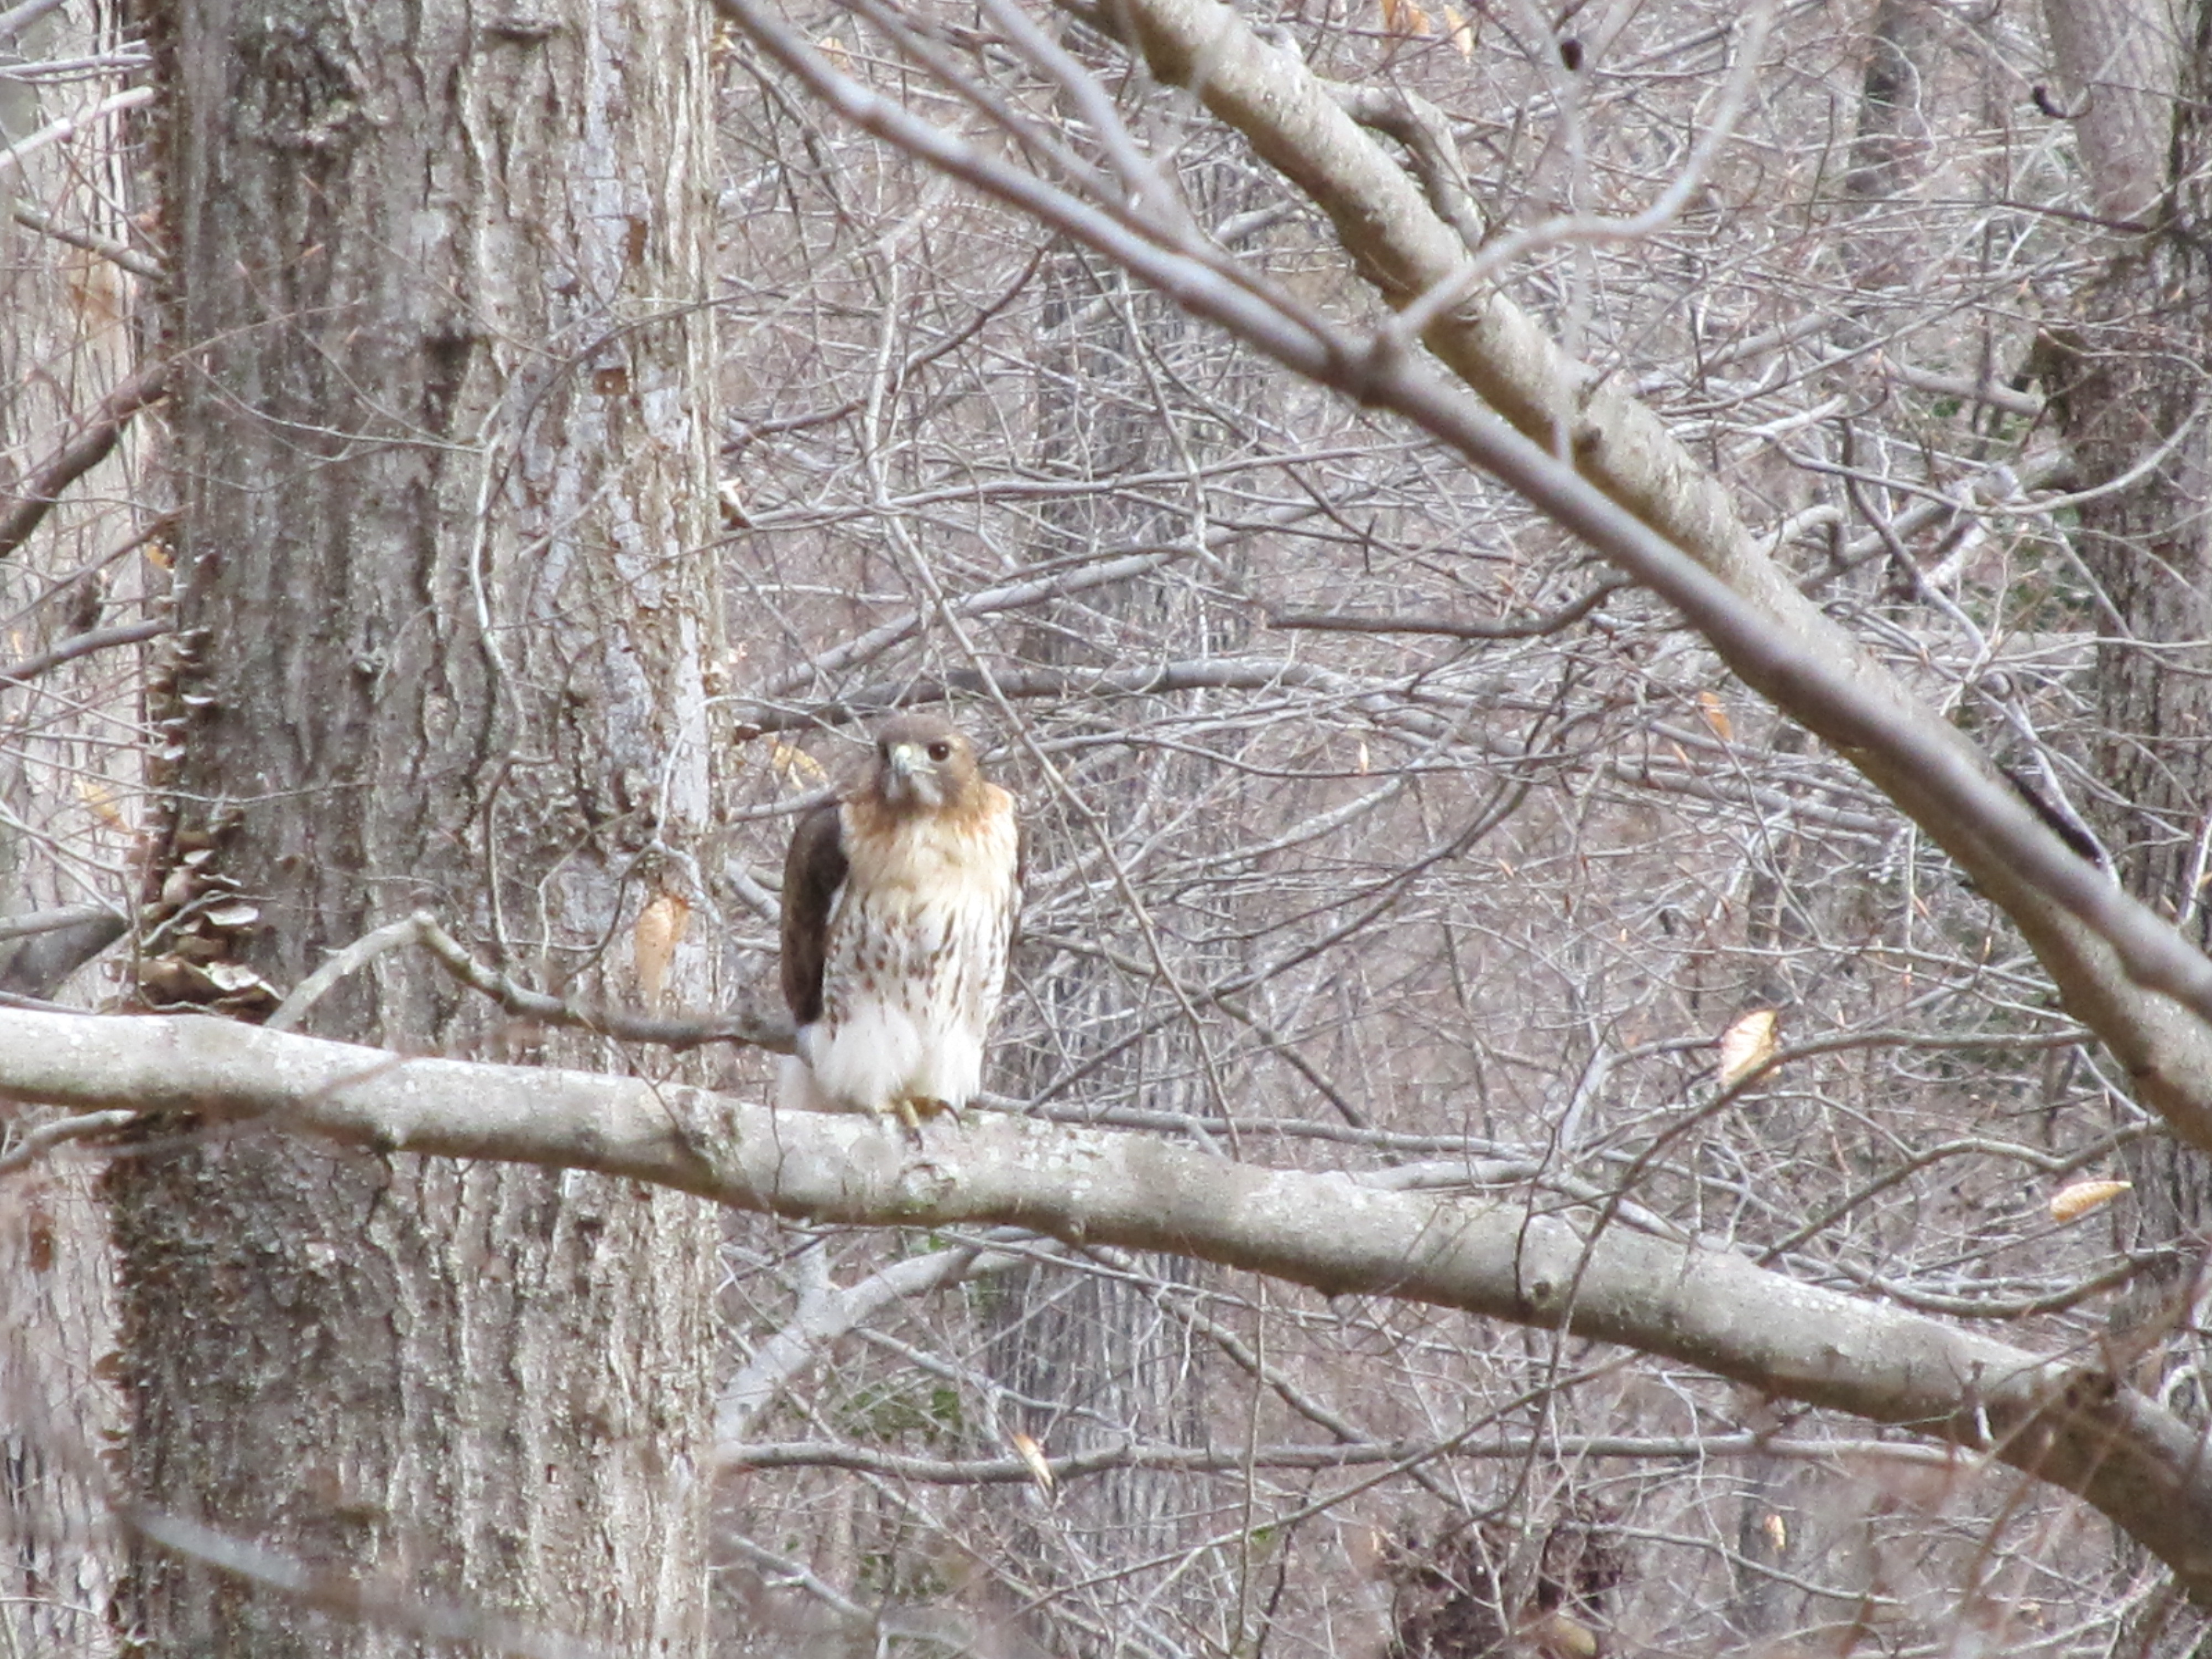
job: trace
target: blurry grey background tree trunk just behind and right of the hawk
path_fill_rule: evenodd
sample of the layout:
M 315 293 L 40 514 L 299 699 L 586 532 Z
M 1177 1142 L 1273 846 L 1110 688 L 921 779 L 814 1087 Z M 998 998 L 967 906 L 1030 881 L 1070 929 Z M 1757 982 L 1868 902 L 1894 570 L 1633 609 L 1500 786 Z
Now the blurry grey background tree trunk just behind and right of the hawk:
M 1082 480 L 1097 495 L 1048 502 L 1040 511 L 1035 555 L 1062 560 L 1168 544 L 1181 526 L 1166 522 L 1164 509 L 1115 493 L 1113 480 L 1175 462 L 1170 422 L 1179 416 L 1155 396 L 1146 358 L 1172 361 L 1188 323 L 1077 248 L 1057 250 L 1042 281 L 1048 296 L 1037 374 L 1037 469 Z M 1192 633 L 1203 639 L 1206 630 L 1203 615 L 1183 615 L 1188 597 L 1172 575 L 1150 573 L 1066 599 L 1040 617 L 1022 657 L 1053 668 L 1099 668 L 1121 659 L 1130 637 L 1172 641 L 1168 653 L 1181 655 L 1177 646 Z M 1152 754 L 1124 757 L 1113 770 L 1093 763 L 1084 779 L 1088 799 L 1128 818 L 1172 796 L 1175 785 L 1177 761 Z M 1064 825 L 1053 807 L 1051 801 L 1033 803 L 1035 869 L 1095 856 L 1095 841 L 1079 825 Z M 1150 1040 L 1128 1042 L 1117 1018 L 1126 991 L 1097 960 L 1062 956 L 1035 973 L 1031 995 L 1044 1031 L 1053 1033 L 1053 1048 L 1020 1055 L 1015 1093 L 1035 1099 L 1057 1073 L 1095 1066 L 1084 1088 L 1088 1097 L 1135 1091 L 1152 1108 L 1212 1115 L 1210 1102 L 1188 1099 L 1199 1073 L 1190 1029 L 1172 1022 Z M 1102 1053 L 1108 1046 L 1117 1051 L 1113 1057 Z M 1141 1272 L 1172 1283 L 1188 1279 L 1190 1263 L 1159 1256 L 1144 1261 Z M 1135 1276 L 1071 1274 L 1057 1263 L 1037 1263 L 1011 1274 L 991 1296 L 993 1365 L 1020 1396 L 1055 1402 L 1055 1411 L 1024 1425 L 1042 1444 L 1077 1451 L 1115 1433 L 1201 1433 L 1197 1374 L 1203 1365 L 1186 1365 L 1179 1332 L 1148 1292 L 1150 1285 Z M 1128 1469 L 1071 1491 L 1048 1528 L 1035 1528 L 1022 1511 L 1015 1524 L 1031 1535 L 1035 1557 L 1051 1564 L 1044 1571 L 1064 1579 L 1106 1579 L 1088 1597 L 1097 1621 L 1119 1628 L 1166 1615 L 1157 1601 L 1170 1575 L 1157 1562 L 1172 1559 L 1201 1531 L 1203 1504 L 1203 1491 L 1188 1478 Z M 1208 1588 L 1199 1575 L 1172 1577 L 1186 1582 L 1186 1593 Z M 1055 1630 L 1055 1646 L 1095 1648 L 1079 1628 Z

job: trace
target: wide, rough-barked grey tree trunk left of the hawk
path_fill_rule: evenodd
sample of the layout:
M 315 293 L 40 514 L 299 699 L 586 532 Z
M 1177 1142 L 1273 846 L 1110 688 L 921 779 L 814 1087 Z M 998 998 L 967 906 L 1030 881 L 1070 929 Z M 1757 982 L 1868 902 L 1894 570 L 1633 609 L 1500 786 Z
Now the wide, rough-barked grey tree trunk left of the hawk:
M 179 0 L 173 734 L 142 989 L 261 1013 L 429 907 L 549 989 L 613 971 L 708 814 L 701 9 Z M 703 995 L 677 960 L 686 998 Z M 646 978 L 655 978 L 646 973 Z M 394 951 L 325 1035 L 608 1064 Z M 703 1641 L 714 1214 L 608 1179 L 188 1124 L 113 1177 L 128 1491 L 398 1613 L 142 1544 L 153 1652 L 414 1652 L 429 1604 Z

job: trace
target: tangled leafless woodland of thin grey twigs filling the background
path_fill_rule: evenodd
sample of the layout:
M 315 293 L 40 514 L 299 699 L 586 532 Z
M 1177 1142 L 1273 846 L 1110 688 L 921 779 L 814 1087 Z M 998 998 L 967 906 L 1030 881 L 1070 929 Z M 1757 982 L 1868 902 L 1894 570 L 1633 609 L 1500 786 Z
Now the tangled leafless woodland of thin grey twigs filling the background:
M 1091 113 L 1009 46 L 1004 11 L 787 15 L 940 124 L 984 133 L 1002 104 L 1088 153 Z M 1031 15 L 1221 248 L 1323 312 L 1385 316 L 1241 135 L 1079 9 Z M 1500 283 L 2077 834 L 2143 838 L 2110 787 L 2137 734 L 2097 697 L 2112 604 L 2077 509 L 2053 504 L 2090 480 L 2037 367 L 2124 230 L 2093 199 L 2042 13 L 1774 4 L 1745 77 L 1734 4 L 1250 15 L 1484 234 L 1637 215 L 1688 177 L 1663 223 L 1537 239 Z M 0 513 L 117 387 L 190 349 L 155 307 L 148 106 L 117 97 L 166 95 L 139 24 L 31 4 L 0 13 L 9 40 L 7 137 L 82 128 L 0 150 Z M 860 717 L 947 701 L 1033 834 L 987 1113 L 1524 1192 L 2106 1363 L 2203 1420 L 2197 1245 L 2141 1190 L 2053 1210 L 2141 1175 L 2130 1148 L 2163 1126 L 1865 776 L 1405 422 L 843 124 L 728 24 L 712 73 L 714 823 L 595 945 L 637 1002 L 668 1000 L 633 931 L 657 891 L 688 909 L 681 1002 L 768 984 L 792 810 L 849 770 Z M 1717 119 L 1725 146 L 1686 175 Z M 0 529 L 0 987 L 100 1009 L 139 1004 L 133 962 L 190 931 L 144 856 L 177 491 L 159 407 L 113 425 L 20 544 Z M 2201 661 L 2203 639 L 2179 644 Z M 2205 825 L 2199 805 L 2161 830 L 2192 938 Z M 64 907 L 133 931 L 42 978 L 58 929 L 18 940 L 7 914 Z M 1767 1015 L 1772 1064 L 1723 1071 L 1723 1033 L 1756 1062 Z M 723 1053 L 719 1082 L 759 1093 L 765 1062 Z M 11 1148 L 38 1121 L 13 1119 Z M 100 1498 L 113 1155 L 0 1172 L 0 1652 L 119 1641 Z M 2192 1639 L 2166 1568 L 2068 1493 L 1624 1347 L 1013 1230 L 728 1214 L 721 1265 L 714 1652 Z M 1029 1449 L 1075 1462 L 1046 1486 Z

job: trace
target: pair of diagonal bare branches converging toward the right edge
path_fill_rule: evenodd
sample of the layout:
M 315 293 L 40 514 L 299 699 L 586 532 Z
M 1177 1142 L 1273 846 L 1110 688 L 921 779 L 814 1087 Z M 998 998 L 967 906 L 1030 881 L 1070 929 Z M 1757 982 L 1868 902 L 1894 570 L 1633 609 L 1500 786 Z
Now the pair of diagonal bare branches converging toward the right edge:
M 1958 728 L 1761 557 L 1719 480 L 1650 409 L 1586 385 L 1531 319 L 1491 294 L 1438 319 L 1425 341 L 1500 420 L 1389 349 L 1389 334 L 1354 338 L 1250 272 L 1221 274 L 1217 254 L 1141 237 L 918 119 L 838 73 L 759 0 L 714 4 L 865 131 L 1057 226 L 1276 363 L 1398 411 L 1674 604 L 1745 684 L 1836 745 L 2006 909 L 2143 1099 L 2212 1150 L 2212 960 L 2081 863 Z M 1458 270 L 1458 237 L 1305 64 L 1217 0 L 1130 0 L 1124 15 L 1152 73 L 1245 131 L 1332 215 L 1385 292 L 1405 299 Z

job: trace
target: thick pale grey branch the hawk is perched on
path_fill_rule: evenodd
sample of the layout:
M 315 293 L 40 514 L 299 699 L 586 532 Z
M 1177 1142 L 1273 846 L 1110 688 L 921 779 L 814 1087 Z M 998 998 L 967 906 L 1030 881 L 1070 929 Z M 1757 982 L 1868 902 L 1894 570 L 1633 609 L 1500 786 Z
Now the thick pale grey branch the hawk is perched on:
M 588 1168 L 810 1221 L 1018 1225 L 1621 1343 L 2077 1491 L 2212 1599 L 2203 1440 L 2110 1371 L 1794 1283 L 1728 1250 L 1595 1232 L 1588 1208 L 1557 1199 L 1380 1192 L 1026 1119 L 953 1126 L 916 1148 L 872 1117 L 409 1060 L 192 1015 L 0 1011 L 0 1097 Z

